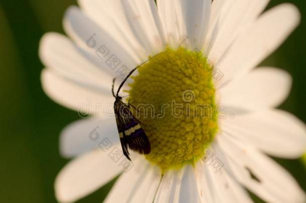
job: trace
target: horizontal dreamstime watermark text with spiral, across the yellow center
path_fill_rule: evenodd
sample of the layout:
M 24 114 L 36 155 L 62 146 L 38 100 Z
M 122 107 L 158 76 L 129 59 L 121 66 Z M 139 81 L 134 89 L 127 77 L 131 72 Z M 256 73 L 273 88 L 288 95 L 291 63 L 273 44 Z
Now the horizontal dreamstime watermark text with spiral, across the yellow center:
M 137 104 L 136 106 L 129 106 L 130 110 L 132 107 L 136 109 L 134 111 L 135 118 L 151 118 L 151 119 L 161 119 L 165 116 L 171 115 L 175 119 L 180 119 L 183 116 L 185 118 L 209 118 L 212 119 L 214 116 L 218 116 L 220 119 L 233 119 L 235 114 L 229 112 L 229 108 L 226 104 L 203 104 L 197 103 L 197 97 L 194 91 L 186 90 L 182 93 L 182 102 L 171 101 L 170 103 L 165 103 L 159 108 L 156 108 L 153 104 Z M 131 101 L 131 104 L 133 101 Z M 126 104 L 127 106 L 129 104 Z M 126 106 L 121 106 L 118 111 L 124 111 Z M 97 103 L 93 104 L 92 99 L 88 98 L 87 103 L 83 103 L 78 107 L 78 114 L 81 118 L 94 117 L 99 118 L 103 115 L 106 118 L 115 118 L 114 114 L 114 104 L 113 103 Z

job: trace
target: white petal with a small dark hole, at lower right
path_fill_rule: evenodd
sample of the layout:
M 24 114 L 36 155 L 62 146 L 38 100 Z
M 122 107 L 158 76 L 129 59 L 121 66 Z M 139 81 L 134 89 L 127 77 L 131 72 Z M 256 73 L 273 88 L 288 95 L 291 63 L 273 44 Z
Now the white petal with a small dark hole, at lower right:
M 217 140 L 231 159 L 228 163 L 234 175 L 253 193 L 268 202 L 304 202 L 305 194 L 297 182 L 271 158 L 229 136 L 220 135 Z

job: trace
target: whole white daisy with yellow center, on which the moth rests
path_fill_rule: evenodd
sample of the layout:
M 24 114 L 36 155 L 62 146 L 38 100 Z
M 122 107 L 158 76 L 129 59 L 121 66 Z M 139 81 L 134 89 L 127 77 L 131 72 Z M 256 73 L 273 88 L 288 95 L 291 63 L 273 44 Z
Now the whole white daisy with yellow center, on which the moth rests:
M 79 0 L 80 9 L 69 8 L 69 37 L 48 33 L 41 41 L 42 84 L 53 100 L 91 117 L 61 134 L 61 153 L 74 159 L 56 178 L 57 199 L 75 201 L 123 171 L 105 202 L 251 202 L 246 189 L 267 202 L 304 202 L 294 178 L 266 155 L 297 158 L 306 149 L 304 124 L 275 109 L 291 77 L 255 69 L 300 15 L 290 4 L 263 13 L 268 2 Z M 212 111 L 140 113 L 151 152 L 126 162 L 108 112 L 112 79 L 155 55 L 124 85 L 133 104 Z

